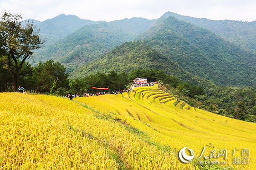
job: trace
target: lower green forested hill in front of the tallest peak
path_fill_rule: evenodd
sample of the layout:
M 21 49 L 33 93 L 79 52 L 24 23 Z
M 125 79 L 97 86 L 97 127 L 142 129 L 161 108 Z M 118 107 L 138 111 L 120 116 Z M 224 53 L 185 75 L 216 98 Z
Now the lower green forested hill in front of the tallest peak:
M 166 56 L 155 50 L 152 46 L 146 44 L 146 41 L 125 42 L 113 50 L 105 53 L 99 59 L 95 59 L 90 63 L 76 68 L 70 75 L 72 79 L 81 79 L 89 75 L 98 75 L 99 73 L 117 74 L 123 72 L 137 72 L 138 69 L 149 70 L 154 75 L 155 69 L 164 70 L 165 73 L 177 77 L 179 80 L 197 85 L 204 89 L 207 95 L 213 95 L 218 86 L 211 81 L 194 76 L 191 73 L 184 71 L 177 62 L 168 59 Z M 165 76 L 156 75 L 158 80 L 164 80 Z

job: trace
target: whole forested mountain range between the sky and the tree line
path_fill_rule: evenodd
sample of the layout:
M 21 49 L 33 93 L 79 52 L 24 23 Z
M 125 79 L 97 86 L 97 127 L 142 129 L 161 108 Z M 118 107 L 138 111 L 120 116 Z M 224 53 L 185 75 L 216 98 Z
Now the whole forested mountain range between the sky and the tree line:
M 57 21 L 61 22 L 63 17 L 74 18 L 67 22 L 69 26 L 72 25 L 71 21 L 78 19 L 80 22 L 81 20 L 76 16 L 60 15 L 56 17 Z M 58 29 L 61 29 L 60 32 L 63 33 L 49 34 L 50 37 L 57 37 L 53 38 L 56 41 L 46 43 L 46 47 L 36 51 L 34 63 L 55 59 L 68 68 L 73 78 L 97 71 L 109 72 L 110 69 L 129 71 L 134 66 L 144 68 L 146 65 L 150 68 L 164 69 L 170 74 L 175 73 L 173 70 L 176 67 L 178 70 L 183 70 L 180 73 L 185 74 L 174 76 L 182 78 L 189 73 L 190 76 L 207 78 L 218 85 L 250 86 L 256 84 L 254 48 L 249 45 L 243 46 L 244 42 L 245 44 L 251 42 L 251 46 L 254 46 L 255 22 L 213 21 L 181 16 L 171 12 L 154 20 L 126 18 L 112 22 L 86 21 L 87 25 L 77 30 L 69 26 L 64 29 L 65 24 L 56 24 L 56 22 L 52 27 L 55 29 L 53 33 L 58 32 Z M 247 26 L 248 24 L 251 27 Z M 243 25 L 245 28 L 240 29 Z M 243 31 L 241 37 L 238 36 L 240 31 Z M 44 34 L 44 31 L 41 34 Z M 223 34 L 229 35 L 223 37 Z M 234 39 L 232 43 L 230 43 L 232 40 L 229 36 Z M 235 42 L 237 45 L 233 44 Z M 154 51 L 151 53 L 154 54 L 154 59 L 148 58 L 150 56 L 146 55 L 146 49 Z M 145 56 L 142 57 L 144 53 Z M 132 60 L 127 63 L 127 59 Z M 124 63 L 127 64 L 124 65 Z M 112 65 L 112 68 L 109 65 Z

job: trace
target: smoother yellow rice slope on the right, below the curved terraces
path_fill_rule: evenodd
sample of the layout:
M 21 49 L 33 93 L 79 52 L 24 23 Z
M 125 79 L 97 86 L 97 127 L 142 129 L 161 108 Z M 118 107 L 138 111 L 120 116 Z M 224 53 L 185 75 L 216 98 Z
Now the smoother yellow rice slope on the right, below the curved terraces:
M 136 90 L 139 91 L 139 88 Z M 144 91 L 145 93 L 147 92 Z M 150 94 L 153 94 L 152 96 L 159 95 L 152 92 L 147 93 L 146 96 Z M 185 108 L 188 108 L 189 105 L 180 101 L 176 102 L 176 100 L 160 104 L 153 102 L 153 97 L 149 97 L 148 100 L 139 100 L 138 95 L 135 95 L 134 99 L 122 98 L 121 95 L 108 95 L 93 98 L 82 97 L 75 100 L 105 113 L 109 113 L 111 110 L 114 113 L 118 111 L 120 119 L 126 120 L 132 127 L 146 132 L 148 136 L 147 139 L 144 139 L 145 141 L 158 145 L 158 149 L 169 148 L 171 152 L 174 152 L 176 158 L 179 150 L 183 147 L 192 148 L 195 157 L 200 157 L 205 146 L 204 154 L 206 156 L 209 156 L 213 150 L 215 150 L 216 156 L 220 150 L 227 150 L 227 159 L 218 159 L 218 161 L 227 161 L 227 164 L 221 165 L 226 169 L 232 167 L 250 170 L 256 165 L 256 125 L 254 123 L 230 119 L 201 109 L 182 110 L 181 105 L 184 105 Z M 177 103 L 177 107 L 174 106 L 174 102 Z M 109 108 L 110 106 L 112 109 Z M 130 116 L 126 110 L 133 116 Z M 233 164 L 233 150 L 236 148 L 250 148 L 249 164 Z M 195 168 L 203 169 L 202 165 L 198 163 L 199 160 L 194 159 L 190 164 Z M 212 165 L 211 168 L 221 169 L 221 166 Z M 207 165 L 204 167 L 209 169 Z

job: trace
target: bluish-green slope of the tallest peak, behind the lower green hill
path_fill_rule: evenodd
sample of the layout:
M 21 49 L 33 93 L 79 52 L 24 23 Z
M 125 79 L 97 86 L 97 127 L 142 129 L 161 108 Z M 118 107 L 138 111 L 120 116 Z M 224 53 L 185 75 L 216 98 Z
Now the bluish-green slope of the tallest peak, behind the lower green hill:
M 137 38 L 145 40 L 193 75 L 217 85 L 255 85 L 256 55 L 216 34 L 190 23 L 167 17 Z

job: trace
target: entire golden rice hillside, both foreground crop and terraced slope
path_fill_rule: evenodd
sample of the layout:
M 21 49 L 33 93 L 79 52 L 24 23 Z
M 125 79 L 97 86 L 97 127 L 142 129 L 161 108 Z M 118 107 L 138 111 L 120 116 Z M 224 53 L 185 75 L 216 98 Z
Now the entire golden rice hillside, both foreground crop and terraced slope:
M 229 166 L 233 149 L 249 148 L 249 164 L 234 167 L 256 166 L 255 124 L 189 109 L 157 86 L 136 90 L 74 101 L 0 93 L 0 167 L 207 170 L 177 157 L 189 147 L 197 158 L 204 146 L 206 156 L 227 149 Z

